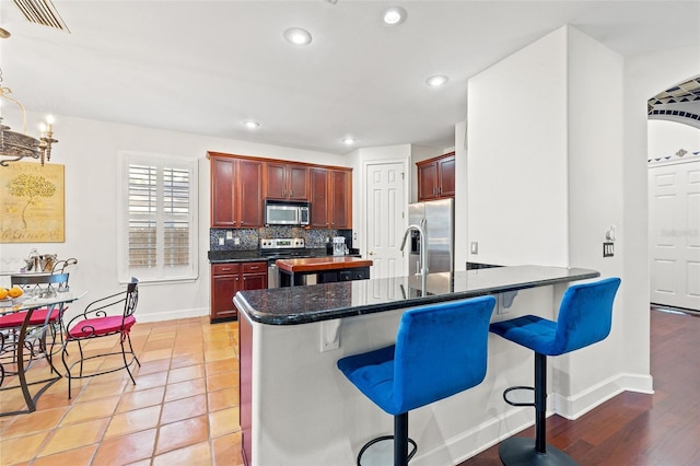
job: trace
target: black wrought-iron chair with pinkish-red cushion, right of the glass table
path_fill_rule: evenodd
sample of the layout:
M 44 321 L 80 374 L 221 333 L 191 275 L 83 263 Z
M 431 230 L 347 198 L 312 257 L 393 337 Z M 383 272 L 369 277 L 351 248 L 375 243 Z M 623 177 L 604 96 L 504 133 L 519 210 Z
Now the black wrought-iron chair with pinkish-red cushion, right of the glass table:
M 136 308 L 139 301 L 139 280 L 131 278 L 131 281 L 127 284 L 126 292 L 121 291 L 88 304 L 85 310 L 70 319 L 67 325 L 67 333 L 63 341 L 63 351 L 61 351 L 61 359 L 63 366 L 66 368 L 66 377 L 68 378 L 68 398 L 72 397 L 71 382 L 74 378 L 88 378 L 97 375 L 104 375 L 112 372 L 126 369 L 133 385 L 136 380 L 131 373 L 130 365 L 136 361 L 140 366 L 141 363 L 137 358 L 133 347 L 131 345 L 130 330 L 133 324 L 136 324 Z M 114 310 L 114 311 L 113 311 Z M 117 313 L 116 310 L 120 310 Z M 112 312 L 113 311 L 113 312 Z M 112 312 L 112 313 L 110 313 Z M 120 350 L 114 351 L 114 347 L 109 347 L 106 352 L 92 353 L 86 352 L 83 345 L 89 346 L 91 341 L 100 338 L 118 337 Z M 125 346 L 125 342 L 127 346 Z M 71 343 L 77 343 L 79 353 L 77 360 L 69 361 L 68 347 Z M 104 348 L 103 345 L 98 345 L 97 348 Z M 106 369 L 96 369 L 88 374 L 83 373 L 85 361 L 91 361 L 97 358 L 109 358 L 120 356 L 120 362 L 116 366 L 107 366 Z M 130 356 L 127 359 L 127 356 Z M 73 371 L 75 365 L 79 366 L 78 373 Z M 103 364 L 104 365 L 104 364 Z

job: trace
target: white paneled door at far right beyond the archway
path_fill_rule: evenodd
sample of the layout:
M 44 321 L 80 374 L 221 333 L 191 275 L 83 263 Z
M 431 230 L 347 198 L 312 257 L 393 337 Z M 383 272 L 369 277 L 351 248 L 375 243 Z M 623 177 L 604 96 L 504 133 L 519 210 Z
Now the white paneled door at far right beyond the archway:
M 649 168 L 651 301 L 700 311 L 700 161 Z

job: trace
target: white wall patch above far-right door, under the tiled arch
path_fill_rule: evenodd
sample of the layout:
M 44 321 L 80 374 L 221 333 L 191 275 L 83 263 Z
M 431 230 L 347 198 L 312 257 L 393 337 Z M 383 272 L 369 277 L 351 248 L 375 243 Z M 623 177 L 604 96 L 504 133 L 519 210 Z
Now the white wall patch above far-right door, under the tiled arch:
M 650 119 L 648 128 L 649 159 L 674 156 L 680 149 L 700 151 L 699 128 L 663 119 Z

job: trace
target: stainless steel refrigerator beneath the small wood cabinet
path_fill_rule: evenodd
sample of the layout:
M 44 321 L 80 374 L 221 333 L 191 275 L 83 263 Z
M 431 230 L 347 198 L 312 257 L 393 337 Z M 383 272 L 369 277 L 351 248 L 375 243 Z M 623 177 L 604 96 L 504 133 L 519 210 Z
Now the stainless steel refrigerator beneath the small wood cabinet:
M 408 206 L 409 224 L 425 230 L 425 238 L 411 231 L 411 248 L 408 259 L 409 275 L 420 271 L 420 248 L 428 247 L 428 272 L 454 271 L 455 269 L 455 200 L 440 199 L 415 202 Z

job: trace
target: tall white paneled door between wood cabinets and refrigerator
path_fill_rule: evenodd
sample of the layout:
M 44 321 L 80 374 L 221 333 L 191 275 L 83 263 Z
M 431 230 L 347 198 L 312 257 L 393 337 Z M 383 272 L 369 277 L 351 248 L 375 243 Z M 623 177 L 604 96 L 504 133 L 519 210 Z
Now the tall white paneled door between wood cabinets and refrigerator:
M 399 251 L 405 224 L 405 174 L 404 162 L 366 165 L 366 248 L 374 263 L 372 278 L 406 275 Z

